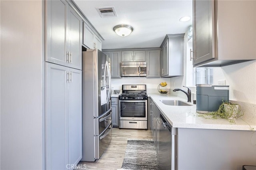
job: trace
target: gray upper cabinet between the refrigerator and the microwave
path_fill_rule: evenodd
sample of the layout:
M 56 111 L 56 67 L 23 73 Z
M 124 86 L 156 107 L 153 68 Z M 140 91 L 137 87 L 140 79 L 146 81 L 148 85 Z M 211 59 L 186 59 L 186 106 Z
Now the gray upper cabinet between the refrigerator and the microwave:
M 120 75 L 120 62 L 121 51 L 103 51 L 110 58 L 110 72 L 111 78 L 121 78 Z

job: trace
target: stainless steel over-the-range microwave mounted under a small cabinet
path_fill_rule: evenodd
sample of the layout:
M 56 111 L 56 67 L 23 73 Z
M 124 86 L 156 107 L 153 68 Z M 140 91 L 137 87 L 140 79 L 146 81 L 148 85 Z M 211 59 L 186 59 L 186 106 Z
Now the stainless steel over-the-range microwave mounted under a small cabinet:
M 121 76 L 146 76 L 146 62 L 122 62 Z

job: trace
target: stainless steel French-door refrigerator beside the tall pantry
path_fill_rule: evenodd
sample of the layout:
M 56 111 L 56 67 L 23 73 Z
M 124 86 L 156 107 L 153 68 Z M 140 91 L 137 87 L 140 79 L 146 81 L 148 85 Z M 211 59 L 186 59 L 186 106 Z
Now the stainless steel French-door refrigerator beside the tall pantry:
M 111 75 L 107 58 L 98 49 L 82 53 L 83 161 L 99 159 L 112 136 Z

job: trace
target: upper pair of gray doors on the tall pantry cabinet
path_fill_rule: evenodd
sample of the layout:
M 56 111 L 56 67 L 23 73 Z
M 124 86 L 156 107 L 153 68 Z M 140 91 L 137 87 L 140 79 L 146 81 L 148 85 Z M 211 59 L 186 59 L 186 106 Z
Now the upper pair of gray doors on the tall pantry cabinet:
M 82 69 L 82 19 L 64 0 L 46 1 L 46 61 Z

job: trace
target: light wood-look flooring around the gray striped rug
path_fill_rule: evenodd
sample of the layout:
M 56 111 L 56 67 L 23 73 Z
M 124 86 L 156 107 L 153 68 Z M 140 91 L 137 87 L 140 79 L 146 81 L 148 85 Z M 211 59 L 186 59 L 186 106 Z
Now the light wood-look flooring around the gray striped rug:
M 128 138 L 152 139 L 152 133 L 151 130 L 113 128 L 110 145 L 101 158 L 95 162 L 80 161 L 79 170 L 117 170 L 122 168 Z

